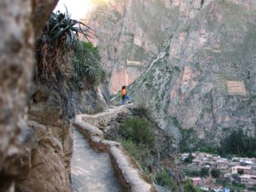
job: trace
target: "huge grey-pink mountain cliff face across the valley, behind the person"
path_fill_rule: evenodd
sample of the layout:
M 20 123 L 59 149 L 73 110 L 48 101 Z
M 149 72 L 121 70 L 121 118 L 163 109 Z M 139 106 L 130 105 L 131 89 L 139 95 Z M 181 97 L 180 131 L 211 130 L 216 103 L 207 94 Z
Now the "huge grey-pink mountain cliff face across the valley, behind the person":
M 112 93 L 132 83 L 134 102 L 177 139 L 190 128 L 208 143 L 236 128 L 254 136 L 254 1 L 110 1 L 91 11 Z

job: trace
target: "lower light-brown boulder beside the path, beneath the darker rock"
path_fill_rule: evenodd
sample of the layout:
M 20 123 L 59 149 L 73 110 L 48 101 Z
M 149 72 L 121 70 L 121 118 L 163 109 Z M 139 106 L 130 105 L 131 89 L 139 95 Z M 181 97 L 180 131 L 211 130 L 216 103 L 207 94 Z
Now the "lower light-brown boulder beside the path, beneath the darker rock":
M 70 157 L 72 154 L 72 133 L 67 132 L 56 136 L 52 127 L 29 121 L 32 132 L 30 142 L 26 143 L 26 156 L 22 158 L 22 170 L 16 189 L 22 192 L 30 191 L 71 191 L 70 187 Z M 61 127 L 63 128 L 63 127 Z M 63 145 L 62 137 L 67 140 Z M 67 146 L 67 147 L 65 147 Z

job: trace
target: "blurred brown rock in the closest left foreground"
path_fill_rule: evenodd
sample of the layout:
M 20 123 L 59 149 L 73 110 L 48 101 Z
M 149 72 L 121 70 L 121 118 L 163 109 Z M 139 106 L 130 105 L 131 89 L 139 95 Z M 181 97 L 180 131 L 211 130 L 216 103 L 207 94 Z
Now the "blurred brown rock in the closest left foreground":
M 34 65 L 31 18 L 49 15 L 57 1 L 3 0 L 0 6 L 0 191 L 13 191 L 26 131 L 26 102 Z M 49 4 L 51 4 L 49 6 Z M 38 12 L 38 5 L 41 9 Z M 35 21 L 35 20 L 34 20 Z M 37 24 L 40 31 L 46 18 Z

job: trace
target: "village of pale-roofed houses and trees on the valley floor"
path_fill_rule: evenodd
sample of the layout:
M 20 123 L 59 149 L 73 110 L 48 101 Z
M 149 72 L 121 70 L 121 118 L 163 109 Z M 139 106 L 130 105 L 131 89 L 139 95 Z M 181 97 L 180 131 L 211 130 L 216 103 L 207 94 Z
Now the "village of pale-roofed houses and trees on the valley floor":
M 256 191 L 256 158 L 222 158 L 195 152 L 180 154 L 183 172 L 201 191 Z

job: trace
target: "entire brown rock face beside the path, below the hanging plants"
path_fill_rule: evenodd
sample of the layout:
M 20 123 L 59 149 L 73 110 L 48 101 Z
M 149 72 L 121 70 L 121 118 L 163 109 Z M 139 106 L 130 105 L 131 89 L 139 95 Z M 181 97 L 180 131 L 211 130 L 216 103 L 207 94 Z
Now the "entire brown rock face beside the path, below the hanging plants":
M 37 84 L 35 88 L 28 102 L 26 154 L 21 159 L 16 190 L 69 192 L 73 152 L 68 110 L 71 91 L 65 84 Z

